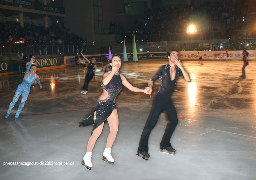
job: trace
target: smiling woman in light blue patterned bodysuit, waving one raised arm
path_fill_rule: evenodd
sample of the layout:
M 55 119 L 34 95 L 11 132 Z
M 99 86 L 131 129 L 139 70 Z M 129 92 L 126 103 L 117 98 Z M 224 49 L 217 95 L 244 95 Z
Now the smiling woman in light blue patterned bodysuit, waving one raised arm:
M 18 111 L 15 114 L 15 118 L 18 118 L 20 116 L 20 111 L 22 110 L 22 108 L 25 105 L 25 102 L 28 98 L 29 92 L 30 92 L 30 86 L 35 82 L 35 80 L 37 81 L 37 84 L 39 85 L 40 89 L 42 89 L 42 85 L 39 81 L 39 76 L 36 74 L 36 65 L 32 65 L 32 63 L 35 62 L 35 57 L 32 57 L 30 60 L 30 63 L 26 69 L 26 73 L 24 75 L 23 81 L 18 85 L 18 88 L 15 91 L 14 97 L 12 99 L 12 102 L 9 106 L 9 109 L 7 111 L 7 113 L 5 114 L 5 118 L 8 118 L 12 108 L 14 107 L 14 105 L 17 103 L 18 99 L 20 98 L 20 95 L 22 93 L 22 98 L 20 101 L 20 106 Z M 30 71 L 29 71 L 30 70 Z

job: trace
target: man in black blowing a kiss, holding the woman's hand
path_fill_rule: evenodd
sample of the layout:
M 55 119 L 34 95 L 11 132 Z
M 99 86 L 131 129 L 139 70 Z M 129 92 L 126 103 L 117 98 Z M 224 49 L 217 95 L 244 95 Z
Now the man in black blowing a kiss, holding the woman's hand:
M 167 51 L 168 53 L 168 51 Z M 156 93 L 156 97 L 153 101 L 151 111 L 148 116 L 148 120 L 144 126 L 143 132 L 140 137 L 140 143 L 138 148 L 138 153 L 140 157 L 148 160 L 148 138 L 151 130 L 155 127 L 158 117 L 162 110 L 167 113 L 168 123 L 164 132 L 164 136 L 160 143 L 160 148 L 162 151 L 167 151 L 168 153 L 175 154 L 175 149 L 172 148 L 170 139 L 172 133 L 178 123 L 177 113 L 175 107 L 170 98 L 172 91 L 179 76 L 183 76 L 185 81 L 190 82 L 190 78 L 186 70 L 181 64 L 179 59 L 179 53 L 173 50 L 169 53 L 168 64 L 160 67 L 156 75 L 148 81 L 148 87 L 152 88 L 153 83 L 159 78 L 159 87 Z

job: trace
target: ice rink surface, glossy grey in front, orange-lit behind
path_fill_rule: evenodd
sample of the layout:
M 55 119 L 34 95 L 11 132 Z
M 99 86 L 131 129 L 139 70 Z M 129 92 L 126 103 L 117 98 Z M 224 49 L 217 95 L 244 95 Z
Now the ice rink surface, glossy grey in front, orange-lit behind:
M 120 73 L 144 88 L 165 61 L 122 63 Z M 112 147 L 114 165 L 102 161 L 109 133 L 104 124 L 92 152 L 92 170 L 81 165 L 92 126 L 78 127 L 102 92 L 102 65 L 97 81 L 80 94 L 85 74 L 78 67 L 37 71 L 43 89 L 34 83 L 20 117 L 20 100 L 4 119 L 23 74 L 0 77 L 0 179 L 256 179 L 256 62 L 184 61 L 192 82 L 179 78 L 172 94 L 178 125 L 171 138 L 176 155 L 160 153 L 166 126 L 161 113 L 149 137 L 148 161 L 136 156 L 158 82 L 151 98 L 123 86 L 116 98 L 119 131 Z M 38 165 L 15 165 L 35 162 Z M 9 163 L 9 164 L 8 164 Z M 41 163 L 41 165 L 40 165 Z M 65 163 L 65 164 L 64 164 Z M 44 164 L 44 165 L 43 165 Z

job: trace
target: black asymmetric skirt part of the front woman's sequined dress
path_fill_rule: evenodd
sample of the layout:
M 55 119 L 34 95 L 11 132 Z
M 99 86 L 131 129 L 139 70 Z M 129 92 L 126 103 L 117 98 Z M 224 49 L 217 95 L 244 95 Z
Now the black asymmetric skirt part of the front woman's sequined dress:
M 90 113 L 86 114 L 82 118 L 82 122 L 79 122 L 79 126 L 89 126 L 93 122 L 92 132 L 98 128 L 103 122 L 105 122 L 112 111 L 116 109 L 116 103 L 113 101 L 103 102 L 102 100 L 97 101 L 97 107 L 94 108 Z M 95 114 L 95 115 L 94 115 Z

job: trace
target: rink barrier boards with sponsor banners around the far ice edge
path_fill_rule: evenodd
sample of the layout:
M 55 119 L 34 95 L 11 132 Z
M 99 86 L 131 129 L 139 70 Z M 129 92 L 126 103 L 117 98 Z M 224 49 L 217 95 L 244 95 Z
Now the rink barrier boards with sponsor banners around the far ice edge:
M 197 56 L 198 51 L 180 51 L 180 59 L 182 61 L 198 61 Z M 242 61 L 243 51 L 228 51 L 229 58 L 228 61 Z M 248 61 L 256 61 L 256 50 L 248 50 L 249 57 Z M 199 51 L 202 55 L 202 61 L 225 61 L 226 51 Z M 121 54 L 122 56 L 123 54 Z M 133 62 L 133 53 L 128 53 L 128 61 Z M 138 60 L 164 60 L 168 59 L 168 54 L 166 52 L 139 52 L 137 53 Z M 106 61 L 108 59 L 108 54 L 93 54 L 86 55 L 88 59 L 95 57 L 96 61 Z M 25 65 L 24 65 L 25 64 Z M 29 60 L 12 60 L 12 61 L 0 61 L 0 74 L 17 74 L 24 72 L 26 70 Z M 71 67 L 76 65 L 75 56 L 64 56 L 64 57 L 52 57 L 52 58 L 39 58 L 35 59 L 35 64 L 38 71 L 48 70 L 48 69 L 58 69 Z M 25 67 L 24 67 L 25 66 Z

